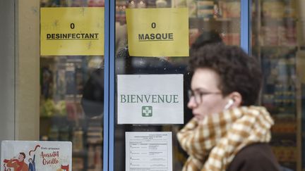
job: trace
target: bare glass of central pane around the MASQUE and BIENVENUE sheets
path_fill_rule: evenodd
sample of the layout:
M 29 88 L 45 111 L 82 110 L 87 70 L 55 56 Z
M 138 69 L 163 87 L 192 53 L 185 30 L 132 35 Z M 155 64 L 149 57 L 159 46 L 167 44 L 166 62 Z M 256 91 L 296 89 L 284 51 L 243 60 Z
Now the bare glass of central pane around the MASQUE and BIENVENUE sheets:
M 126 30 L 126 8 L 189 8 L 189 47 L 210 42 L 225 42 L 239 46 L 240 1 L 217 0 L 118 0 L 116 1 L 116 58 L 117 75 L 183 74 L 184 123 L 192 118 L 186 107 L 191 73 L 187 72 L 188 57 L 129 56 Z M 196 41 L 197 39 L 197 41 Z M 195 43 L 196 42 L 196 43 Z M 117 113 L 116 113 L 117 117 Z M 181 170 L 187 155 L 181 150 L 176 134 L 184 125 L 117 125 L 115 118 L 114 170 L 125 170 L 125 132 L 172 132 L 173 170 Z

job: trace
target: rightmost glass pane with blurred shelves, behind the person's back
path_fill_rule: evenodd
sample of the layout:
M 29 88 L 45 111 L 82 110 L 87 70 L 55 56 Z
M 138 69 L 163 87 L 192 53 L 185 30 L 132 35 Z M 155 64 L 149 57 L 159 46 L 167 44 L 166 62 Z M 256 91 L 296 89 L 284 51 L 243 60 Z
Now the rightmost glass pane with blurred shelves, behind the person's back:
M 303 153 L 299 152 L 304 106 L 298 94 L 304 82 L 299 82 L 302 72 L 297 73 L 302 51 L 298 49 L 302 41 L 297 36 L 298 3 L 301 1 L 253 1 L 252 14 L 252 51 L 261 60 L 264 75 L 261 103 L 275 120 L 271 145 L 280 164 L 292 170 L 304 170 Z

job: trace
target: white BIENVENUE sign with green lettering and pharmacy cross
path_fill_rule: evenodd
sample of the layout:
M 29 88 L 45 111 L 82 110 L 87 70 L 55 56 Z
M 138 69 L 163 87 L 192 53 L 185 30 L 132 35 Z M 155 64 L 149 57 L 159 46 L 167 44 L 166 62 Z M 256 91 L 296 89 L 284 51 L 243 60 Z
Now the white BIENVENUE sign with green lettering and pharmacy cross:
M 183 124 L 183 75 L 118 75 L 118 124 Z

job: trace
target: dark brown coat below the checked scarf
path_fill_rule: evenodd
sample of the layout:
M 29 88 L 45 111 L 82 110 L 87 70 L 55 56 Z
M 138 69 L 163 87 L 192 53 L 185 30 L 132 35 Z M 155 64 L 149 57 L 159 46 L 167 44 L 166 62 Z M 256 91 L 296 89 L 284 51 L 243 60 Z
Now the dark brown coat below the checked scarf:
M 242 148 L 227 171 L 280 171 L 280 165 L 270 146 L 266 143 L 258 143 Z

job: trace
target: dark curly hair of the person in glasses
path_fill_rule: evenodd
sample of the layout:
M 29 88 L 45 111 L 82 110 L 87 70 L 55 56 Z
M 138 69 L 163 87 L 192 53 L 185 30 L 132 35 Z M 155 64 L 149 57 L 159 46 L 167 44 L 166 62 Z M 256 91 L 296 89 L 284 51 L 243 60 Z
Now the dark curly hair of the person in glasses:
M 217 72 L 222 96 L 237 91 L 242 96 L 241 105 L 256 103 L 263 79 L 261 66 L 256 58 L 247 55 L 240 47 L 216 43 L 193 48 L 189 70 L 194 72 L 198 68 Z

